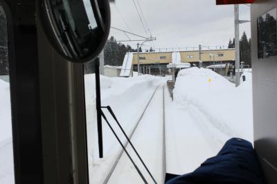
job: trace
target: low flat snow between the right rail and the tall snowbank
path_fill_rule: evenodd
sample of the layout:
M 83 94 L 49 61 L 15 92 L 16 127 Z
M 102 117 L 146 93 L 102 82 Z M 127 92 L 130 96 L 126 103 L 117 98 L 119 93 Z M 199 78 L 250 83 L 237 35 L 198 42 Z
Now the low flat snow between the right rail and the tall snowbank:
M 166 172 L 193 172 L 206 158 L 215 156 L 217 150 L 211 147 L 195 116 L 183 106 L 172 104 L 168 90 L 165 92 Z

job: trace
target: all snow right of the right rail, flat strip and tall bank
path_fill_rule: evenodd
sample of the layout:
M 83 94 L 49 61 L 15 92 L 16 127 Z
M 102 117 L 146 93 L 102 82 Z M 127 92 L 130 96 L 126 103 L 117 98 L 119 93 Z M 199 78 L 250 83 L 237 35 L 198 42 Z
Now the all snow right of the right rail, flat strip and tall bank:
M 174 100 L 166 100 L 168 173 L 193 172 L 229 138 L 253 142 L 251 73 L 244 75 L 247 81 L 235 88 L 205 68 L 179 72 Z

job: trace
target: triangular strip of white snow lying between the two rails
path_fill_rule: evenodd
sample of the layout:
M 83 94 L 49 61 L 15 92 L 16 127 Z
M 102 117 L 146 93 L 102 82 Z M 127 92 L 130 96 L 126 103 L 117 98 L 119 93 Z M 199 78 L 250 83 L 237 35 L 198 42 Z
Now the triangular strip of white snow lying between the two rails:
M 141 158 L 148 166 L 157 183 L 162 183 L 163 173 L 163 86 L 159 86 L 152 102 L 145 112 L 143 118 L 132 138 L 132 143 L 137 149 Z M 140 163 L 139 158 L 134 154 L 128 145 L 127 151 L 131 154 L 135 163 L 147 179 L 148 183 L 154 183 L 148 172 Z M 143 180 L 136 172 L 134 165 L 124 153 L 118 162 L 109 183 L 143 183 Z

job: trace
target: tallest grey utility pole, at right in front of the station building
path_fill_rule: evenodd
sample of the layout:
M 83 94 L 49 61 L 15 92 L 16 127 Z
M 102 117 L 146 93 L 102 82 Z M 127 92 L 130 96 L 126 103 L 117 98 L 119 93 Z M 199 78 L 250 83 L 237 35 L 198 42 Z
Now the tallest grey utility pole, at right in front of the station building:
M 240 85 L 240 23 L 239 5 L 234 5 L 235 9 L 235 86 Z

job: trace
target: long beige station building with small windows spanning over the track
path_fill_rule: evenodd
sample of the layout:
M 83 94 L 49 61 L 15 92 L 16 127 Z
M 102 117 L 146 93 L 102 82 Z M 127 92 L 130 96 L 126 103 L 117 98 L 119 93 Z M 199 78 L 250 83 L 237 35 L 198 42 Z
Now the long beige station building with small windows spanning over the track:
M 235 49 L 226 48 L 226 49 L 216 49 L 216 50 L 202 50 L 201 58 L 202 61 L 199 61 L 199 50 L 181 50 L 177 52 L 168 51 L 168 52 L 143 52 L 139 53 L 139 63 L 141 66 L 141 73 L 148 73 L 152 75 L 161 75 L 167 73 L 167 65 L 171 64 L 172 61 L 175 61 L 175 54 L 178 53 L 181 57 L 181 63 L 190 63 L 191 66 L 200 66 L 202 67 L 215 65 L 215 64 L 235 64 Z M 130 53 L 127 53 L 125 57 L 129 57 Z M 137 53 L 132 53 L 132 59 L 126 59 L 129 62 L 125 62 L 125 66 L 128 68 L 123 69 L 125 71 L 133 70 L 138 71 L 138 58 Z

